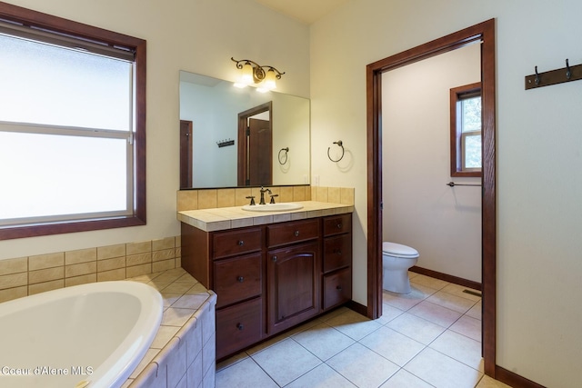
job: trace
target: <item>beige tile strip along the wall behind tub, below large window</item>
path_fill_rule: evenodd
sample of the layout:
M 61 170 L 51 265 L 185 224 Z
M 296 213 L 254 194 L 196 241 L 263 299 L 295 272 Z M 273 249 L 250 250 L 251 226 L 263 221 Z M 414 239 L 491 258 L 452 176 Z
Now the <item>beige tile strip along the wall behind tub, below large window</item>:
M 179 268 L 179 235 L 138 243 L 0 260 L 0 303 L 77 284 Z

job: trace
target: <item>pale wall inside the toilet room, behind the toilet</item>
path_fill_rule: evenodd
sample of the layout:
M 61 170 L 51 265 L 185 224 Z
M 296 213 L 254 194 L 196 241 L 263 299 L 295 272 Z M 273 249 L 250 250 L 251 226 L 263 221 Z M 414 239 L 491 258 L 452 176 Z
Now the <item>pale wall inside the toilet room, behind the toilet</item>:
M 468 45 L 382 75 L 384 241 L 419 253 L 419 267 L 481 283 L 481 190 L 450 176 L 453 87 L 481 80 L 481 47 Z

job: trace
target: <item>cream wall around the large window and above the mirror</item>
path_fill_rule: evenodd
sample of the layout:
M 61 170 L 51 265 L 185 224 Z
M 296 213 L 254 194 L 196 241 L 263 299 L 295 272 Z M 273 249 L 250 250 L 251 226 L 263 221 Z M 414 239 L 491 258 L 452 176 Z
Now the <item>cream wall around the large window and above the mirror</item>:
M 237 70 L 230 57 L 245 57 L 286 72 L 277 82 L 281 92 L 309 96 L 308 27 L 250 0 L 9 0 L 9 3 L 146 39 L 147 225 L 0 241 L 0 259 L 146 241 L 180 233 L 176 221 L 179 70 L 235 81 Z

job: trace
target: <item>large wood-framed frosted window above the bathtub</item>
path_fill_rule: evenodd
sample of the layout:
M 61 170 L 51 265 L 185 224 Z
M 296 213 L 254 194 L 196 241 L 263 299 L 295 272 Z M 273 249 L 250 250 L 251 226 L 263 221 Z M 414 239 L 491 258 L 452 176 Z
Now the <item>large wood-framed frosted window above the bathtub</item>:
M 146 42 L 0 10 L 0 239 L 146 224 Z

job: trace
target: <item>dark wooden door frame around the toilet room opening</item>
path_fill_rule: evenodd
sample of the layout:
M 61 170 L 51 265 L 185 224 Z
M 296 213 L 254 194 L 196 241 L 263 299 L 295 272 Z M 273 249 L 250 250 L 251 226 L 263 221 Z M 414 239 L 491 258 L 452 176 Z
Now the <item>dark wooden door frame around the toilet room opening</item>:
M 481 41 L 483 116 L 482 291 L 485 373 L 496 374 L 496 60 L 495 19 L 366 66 L 367 315 L 382 315 L 382 73 Z

